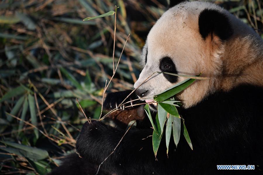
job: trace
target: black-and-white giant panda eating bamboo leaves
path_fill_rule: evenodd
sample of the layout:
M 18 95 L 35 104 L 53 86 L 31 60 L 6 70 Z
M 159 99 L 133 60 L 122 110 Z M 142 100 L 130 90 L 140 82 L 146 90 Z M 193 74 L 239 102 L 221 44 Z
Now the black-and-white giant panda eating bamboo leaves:
M 167 156 L 164 139 L 155 158 L 153 129 L 148 126 L 130 129 L 110 155 L 125 129 L 93 121 L 84 124 L 77 139 L 79 156 L 70 155 L 53 174 L 96 174 L 108 155 L 98 174 L 263 174 L 263 41 L 258 34 L 213 3 L 183 1 L 152 27 L 141 60 L 133 97 L 146 102 L 185 79 L 154 74 L 144 82 L 156 71 L 202 72 L 210 78 L 195 81 L 176 96 L 182 102 L 179 112 L 193 150 L 180 139 L 177 147 L 170 142 Z M 129 93 L 109 94 L 105 106 L 115 108 Z M 150 106 L 155 112 L 156 107 Z M 255 169 L 218 170 L 217 165 L 255 165 Z

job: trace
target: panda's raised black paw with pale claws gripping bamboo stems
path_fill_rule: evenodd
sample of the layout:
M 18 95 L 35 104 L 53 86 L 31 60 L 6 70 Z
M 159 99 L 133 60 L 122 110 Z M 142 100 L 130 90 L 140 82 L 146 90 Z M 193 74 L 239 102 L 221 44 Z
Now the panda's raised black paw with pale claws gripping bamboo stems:
M 107 94 L 107 97 L 104 100 L 103 108 L 106 110 L 116 109 L 119 108 L 118 106 L 122 103 L 122 101 L 132 92 L 132 90 L 125 90 L 120 92 L 111 92 Z M 129 97 L 123 102 L 126 103 L 128 101 L 138 99 L 137 95 L 133 92 Z M 131 106 L 133 104 L 139 104 L 140 100 L 131 101 L 127 104 L 124 104 L 125 106 Z M 134 106 L 139 107 L 139 106 Z M 120 108 L 123 108 L 120 106 Z

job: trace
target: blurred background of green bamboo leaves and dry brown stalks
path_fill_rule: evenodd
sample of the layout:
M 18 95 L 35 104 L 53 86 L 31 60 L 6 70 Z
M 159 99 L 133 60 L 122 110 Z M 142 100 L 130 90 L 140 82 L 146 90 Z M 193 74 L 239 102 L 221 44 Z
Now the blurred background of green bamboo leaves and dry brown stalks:
M 212 1 L 263 38 L 262 0 Z M 46 174 L 74 149 L 86 115 L 98 119 L 107 92 L 133 89 L 146 36 L 166 0 L 0 1 L 0 174 Z M 105 112 L 103 112 L 105 113 Z

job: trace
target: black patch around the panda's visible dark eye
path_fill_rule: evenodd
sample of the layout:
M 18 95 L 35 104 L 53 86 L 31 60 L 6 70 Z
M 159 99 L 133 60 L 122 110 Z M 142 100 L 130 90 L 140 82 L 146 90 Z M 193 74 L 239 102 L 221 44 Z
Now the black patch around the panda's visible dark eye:
M 170 57 L 163 57 L 160 60 L 159 68 L 160 68 L 160 70 L 162 72 L 169 72 L 169 73 L 177 74 L 177 70 L 176 70 L 175 64 L 174 64 L 174 62 L 172 61 L 172 59 Z M 165 76 L 165 78 L 170 83 L 177 82 L 177 79 L 178 79 L 177 76 L 173 76 L 173 75 L 169 75 L 169 74 L 163 74 L 163 75 Z

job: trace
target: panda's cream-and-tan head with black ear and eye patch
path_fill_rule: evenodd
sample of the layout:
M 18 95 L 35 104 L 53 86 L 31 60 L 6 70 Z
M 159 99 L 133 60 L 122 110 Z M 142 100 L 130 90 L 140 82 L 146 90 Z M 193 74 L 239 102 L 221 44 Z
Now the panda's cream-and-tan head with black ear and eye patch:
M 243 31 L 233 31 L 238 27 L 243 27 Z M 136 95 L 149 102 L 155 95 L 186 79 L 155 73 L 157 71 L 187 75 L 202 72 L 202 76 L 211 78 L 195 81 L 177 95 L 185 108 L 197 104 L 220 86 L 224 68 L 222 57 L 229 54 L 226 53 L 227 43 L 231 38 L 246 35 L 246 32 L 253 33 L 236 17 L 213 3 L 182 2 L 170 8 L 147 36 L 141 56 L 143 70 L 134 84 Z

